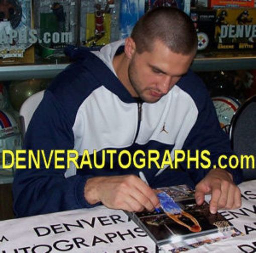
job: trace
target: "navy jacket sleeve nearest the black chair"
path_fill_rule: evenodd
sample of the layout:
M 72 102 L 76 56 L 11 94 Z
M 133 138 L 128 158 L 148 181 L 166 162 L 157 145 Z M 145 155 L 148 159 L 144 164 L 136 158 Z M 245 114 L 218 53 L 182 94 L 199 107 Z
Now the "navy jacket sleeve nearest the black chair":
M 228 158 L 234 154 L 230 148 L 228 135 L 220 128 L 216 110 L 207 89 L 198 77 L 196 81 L 198 92 L 193 91 L 193 94 L 197 94 L 194 95 L 194 102 L 198 109 L 198 117 L 185 140 L 183 150 L 186 154 L 189 150 L 190 157 L 198 155 L 199 162 L 196 164 L 192 160 L 189 161 L 189 157 L 186 155 L 186 160 L 182 162 L 182 167 L 190 173 L 196 184 L 210 169 L 215 166 L 218 167 L 220 155 L 226 155 L 227 159 L 222 159 L 221 164 L 227 165 L 225 169 L 232 174 L 234 182 L 238 184 L 242 180 L 241 169 L 239 166 L 231 168 L 227 162 Z M 209 155 L 205 153 L 211 164 L 208 168 L 203 168 L 202 166 L 202 164 L 208 165 L 207 160 L 200 156 L 203 150 L 209 151 Z M 188 168 L 188 164 L 190 164 L 190 168 Z

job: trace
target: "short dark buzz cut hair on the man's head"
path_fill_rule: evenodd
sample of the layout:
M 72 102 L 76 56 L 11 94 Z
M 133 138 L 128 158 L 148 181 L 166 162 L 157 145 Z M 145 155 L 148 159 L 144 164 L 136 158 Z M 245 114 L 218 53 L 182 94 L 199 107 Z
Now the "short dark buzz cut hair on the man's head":
M 134 26 L 131 37 L 138 53 L 152 51 L 156 40 L 175 53 L 188 55 L 197 50 L 197 33 L 191 18 L 174 7 L 158 7 L 147 12 Z

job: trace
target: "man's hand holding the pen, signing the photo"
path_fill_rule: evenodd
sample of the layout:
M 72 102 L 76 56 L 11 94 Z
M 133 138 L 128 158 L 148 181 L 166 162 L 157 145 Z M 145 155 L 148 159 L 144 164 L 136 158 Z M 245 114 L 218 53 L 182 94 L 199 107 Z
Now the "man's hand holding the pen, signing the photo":
M 153 211 L 160 207 L 156 193 L 136 175 L 89 178 L 84 187 L 88 203 L 101 201 L 105 206 L 127 211 Z

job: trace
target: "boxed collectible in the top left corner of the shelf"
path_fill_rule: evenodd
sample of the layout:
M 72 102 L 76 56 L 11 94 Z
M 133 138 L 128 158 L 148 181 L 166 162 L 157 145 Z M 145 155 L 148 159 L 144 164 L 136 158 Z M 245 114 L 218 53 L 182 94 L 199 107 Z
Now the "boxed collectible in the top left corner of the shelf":
M 34 62 L 31 0 L 0 1 L 0 64 Z

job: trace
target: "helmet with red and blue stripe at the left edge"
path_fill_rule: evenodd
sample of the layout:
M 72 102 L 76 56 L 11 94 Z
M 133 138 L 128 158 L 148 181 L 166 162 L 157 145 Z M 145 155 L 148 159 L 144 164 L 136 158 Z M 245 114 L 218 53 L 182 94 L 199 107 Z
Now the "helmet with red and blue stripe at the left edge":
M 3 150 L 16 152 L 21 149 L 21 132 L 18 124 L 11 113 L 0 110 L 0 166 L 3 166 Z M 15 157 L 15 156 L 14 156 Z M 5 164 L 12 163 L 11 155 L 5 156 Z

